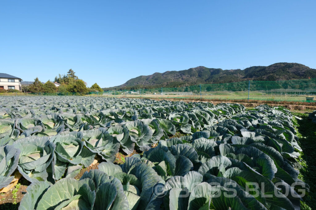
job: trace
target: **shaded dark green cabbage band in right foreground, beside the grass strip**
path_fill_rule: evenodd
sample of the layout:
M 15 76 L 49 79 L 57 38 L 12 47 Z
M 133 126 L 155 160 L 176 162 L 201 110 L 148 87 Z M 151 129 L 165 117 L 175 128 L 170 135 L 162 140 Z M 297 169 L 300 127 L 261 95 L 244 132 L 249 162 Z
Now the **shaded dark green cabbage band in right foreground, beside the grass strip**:
M 288 110 L 261 105 L 122 165 L 102 162 L 80 180 L 33 183 L 20 208 L 300 209 L 308 185 L 292 164 L 301 150 L 294 126 Z

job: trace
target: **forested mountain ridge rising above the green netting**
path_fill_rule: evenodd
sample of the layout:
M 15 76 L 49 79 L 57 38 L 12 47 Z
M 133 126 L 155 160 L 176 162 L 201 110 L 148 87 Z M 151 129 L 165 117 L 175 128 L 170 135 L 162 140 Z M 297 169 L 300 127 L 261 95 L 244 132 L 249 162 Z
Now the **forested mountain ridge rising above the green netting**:
M 277 81 L 291 79 L 316 78 L 316 69 L 298 63 L 275 63 L 269 66 L 252 66 L 244 70 L 222 70 L 198 66 L 183 71 L 166 71 L 149 76 L 139 76 L 122 85 L 103 88 L 138 89 L 138 88 L 175 88 L 196 84 L 228 83 L 245 80 Z

